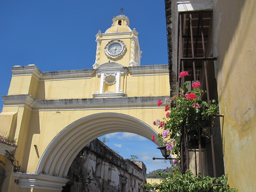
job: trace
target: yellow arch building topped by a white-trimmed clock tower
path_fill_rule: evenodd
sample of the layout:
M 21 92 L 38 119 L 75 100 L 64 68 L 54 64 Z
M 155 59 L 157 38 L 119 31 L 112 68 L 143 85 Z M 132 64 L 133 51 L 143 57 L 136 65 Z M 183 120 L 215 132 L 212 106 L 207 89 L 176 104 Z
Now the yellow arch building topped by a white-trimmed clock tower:
M 99 31 L 96 43 L 93 69 L 12 67 L 0 135 L 17 139 L 12 154 L 20 170 L 13 172 L 1 149 L 3 191 L 61 191 L 73 159 L 90 141 L 113 132 L 157 136 L 151 126 L 165 116 L 157 101 L 169 97 L 168 65 L 140 66 L 138 32 L 125 15 Z

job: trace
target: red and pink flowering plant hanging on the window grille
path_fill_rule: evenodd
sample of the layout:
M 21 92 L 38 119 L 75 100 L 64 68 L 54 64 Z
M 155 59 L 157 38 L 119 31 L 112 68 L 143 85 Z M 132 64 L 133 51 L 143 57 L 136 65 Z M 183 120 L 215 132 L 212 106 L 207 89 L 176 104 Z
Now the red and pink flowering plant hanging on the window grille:
M 187 71 L 180 73 L 180 78 L 188 76 Z M 207 128 L 209 127 L 210 117 L 218 114 L 218 105 L 215 100 L 210 101 L 210 105 L 202 100 L 205 91 L 200 89 L 200 82 L 192 83 L 192 90 L 188 89 L 189 83 L 185 82 L 180 87 L 180 93 L 170 99 L 165 99 L 166 117 L 163 121 L 157 119 L 154 125 L 163 129 L 162 134 L 158 134 L 158 141 L 162 145 L 166 145 L 169 153 L 174 153 L 180 158 L 180 136 L 181 129 L 186 127 L 189 139 L 189 148 L 198 148 L 198 130 L 200 129 L 200 137 L 202 147 L 205 147 L 207 137 Z M 163 105 L 161 100 L 158 106 Z

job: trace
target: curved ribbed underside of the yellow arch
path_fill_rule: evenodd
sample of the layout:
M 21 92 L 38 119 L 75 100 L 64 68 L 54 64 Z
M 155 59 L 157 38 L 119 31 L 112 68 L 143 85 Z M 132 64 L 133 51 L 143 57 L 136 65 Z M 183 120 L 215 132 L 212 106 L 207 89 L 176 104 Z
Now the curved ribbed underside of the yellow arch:
M 130 132 L 151 140 L 157 132 L 143 121 L 121 113 L 98 113 L 71 123 L 49 143 L 36 172 L 66 177 L 76 155 L 92 140 L 114 132 Z M 160 145 L 160 143 L 156 143 Z

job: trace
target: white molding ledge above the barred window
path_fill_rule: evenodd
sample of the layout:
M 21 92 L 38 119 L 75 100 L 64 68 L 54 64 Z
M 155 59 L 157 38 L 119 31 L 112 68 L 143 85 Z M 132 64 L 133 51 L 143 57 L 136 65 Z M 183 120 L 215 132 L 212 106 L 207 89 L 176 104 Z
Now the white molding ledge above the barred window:
M 212 0 L 178 0 L 178 12 L 213 10 Z

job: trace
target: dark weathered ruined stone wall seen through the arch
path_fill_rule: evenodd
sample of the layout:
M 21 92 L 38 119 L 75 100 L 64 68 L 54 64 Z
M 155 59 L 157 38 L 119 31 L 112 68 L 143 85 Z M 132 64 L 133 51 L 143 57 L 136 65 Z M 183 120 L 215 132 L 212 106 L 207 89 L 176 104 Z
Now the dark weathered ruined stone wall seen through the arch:
M 88 183 L 88 177 L 92 179 Z M 63 192 L 142 192 L 146 167 L 141 161 L 123 159 L 99 140 L 93 140 L 76 156 Z

